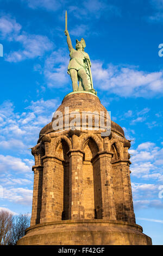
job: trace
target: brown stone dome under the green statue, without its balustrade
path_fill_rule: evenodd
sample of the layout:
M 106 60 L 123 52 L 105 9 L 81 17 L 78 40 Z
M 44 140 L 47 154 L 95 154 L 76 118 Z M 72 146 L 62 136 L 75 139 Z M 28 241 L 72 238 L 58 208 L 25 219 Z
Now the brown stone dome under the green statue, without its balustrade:
M 57 111 L 60 111 L 63 114 L 64 118 L 65 118 L 65 107 L 69 107 L 69 113 L 72 113 L 75 111 L 77 111 L 80 114 L 88 111 L 90 111 L 91 113 L 93 112 L 100 113 L 101 111 L 104 111 L 104 113 L 107 112 L 106 108 L 101 104 L 101 101 L 98 99 L 96 95 L 92 93 L 86 93 L 86 92 L 71 93 L 64 97 L 61 105 L 57 109 Z M 52 123 L 54 120 L 55 118 L 52 118 L 51 123 L 47 124 L 45 127 L 41 129 L 39 137 L 42 137 L 42 135 L 45 133 L 54 131 L 52 127 Z M 116 124 L 113 121 L 111 121 L 111 130 L 118 133 L 119 136 L 124 137 L 124 131 L 121 128 L 121 126 Z

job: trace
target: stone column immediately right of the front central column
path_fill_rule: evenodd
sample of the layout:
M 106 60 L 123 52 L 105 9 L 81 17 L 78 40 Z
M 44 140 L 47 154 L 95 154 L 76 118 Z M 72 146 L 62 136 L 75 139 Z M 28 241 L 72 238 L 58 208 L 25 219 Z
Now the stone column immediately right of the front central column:
M 112 154 L 109 151 L 101 151 L 98 153 L 101 172 L 102 215 L 104 220 L 116 220 L 111 157 Z

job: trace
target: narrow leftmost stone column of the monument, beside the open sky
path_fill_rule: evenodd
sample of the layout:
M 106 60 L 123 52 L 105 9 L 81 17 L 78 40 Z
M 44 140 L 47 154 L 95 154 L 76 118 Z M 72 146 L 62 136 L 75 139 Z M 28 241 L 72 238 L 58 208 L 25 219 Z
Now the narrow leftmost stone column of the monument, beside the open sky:
M 34 185 L 33 185 L 32 216 L 30 219 L 30 225 L 35 225 L 40 223 L 43 166 L 33 166 L 32 169 L 34 171 Z

